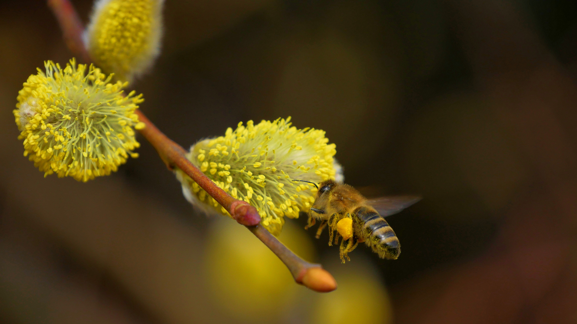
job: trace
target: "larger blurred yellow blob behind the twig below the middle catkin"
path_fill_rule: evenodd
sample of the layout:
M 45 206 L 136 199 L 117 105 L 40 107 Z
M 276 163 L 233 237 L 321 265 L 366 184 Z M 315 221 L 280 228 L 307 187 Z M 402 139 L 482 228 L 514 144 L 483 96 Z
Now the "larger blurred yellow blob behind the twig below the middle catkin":
M 314 258 L 310 238 L 294 224 L 287 222 L 279 239 L 302 258 Z M 205 258 L 209 291 L 235 318 L 272 318 L 295 302 L 298 289 L 305 289 L 271 250 L 228 218 L 212 224 Z

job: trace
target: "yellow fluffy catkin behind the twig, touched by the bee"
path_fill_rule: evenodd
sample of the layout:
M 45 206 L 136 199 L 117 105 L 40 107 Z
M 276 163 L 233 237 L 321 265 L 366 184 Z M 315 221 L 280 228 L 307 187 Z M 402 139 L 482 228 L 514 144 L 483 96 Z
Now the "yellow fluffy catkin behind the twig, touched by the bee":
M 316 188 L 294 179 L 319 183 L 342 179 L 334 160 L 335 144 L 319 129 L 297 129 L 290 117 L 273 122 L 252 120 L 224 136 L 209 138 L 190 148 L 188 159 L 234 198 L 249 202 L 261 223 L 278 235 L 284 216 L 298 217 L 314 201 Z M 296 163 L 295 163 L 296 162 Z M 185 197 L 205 212 L 219 212 L 216 204 L 192 179 L 177 170 Z

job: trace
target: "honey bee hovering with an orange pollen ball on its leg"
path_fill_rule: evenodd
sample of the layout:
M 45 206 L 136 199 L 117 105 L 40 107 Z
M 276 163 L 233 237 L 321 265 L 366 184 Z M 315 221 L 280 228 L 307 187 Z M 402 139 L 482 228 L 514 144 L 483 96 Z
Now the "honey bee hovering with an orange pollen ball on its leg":
M 295 180 L 309 182 L 306 180 Z M 421 198 L 416 196 L 381 197 L 366 199 L 348 184 L 325 180 L 317 187 L 317 197 L 308 212 L 305 229 L 320 221 L 316 238 L 320 238 L 325 227 L 329 227 L 329 246 L 340 242 L 340 259 L 351 261 L 349 253 L 358 243 L 365 242 L 381 259 L 396 259 L 400 254 L 399 239 L 383 217 L 400 212 Z M 377 212 L 377 210 L 379 210 Z M 380 212 L 380 213 L 379 213 Z M 336 231 L 336 235 L 334 232 Z

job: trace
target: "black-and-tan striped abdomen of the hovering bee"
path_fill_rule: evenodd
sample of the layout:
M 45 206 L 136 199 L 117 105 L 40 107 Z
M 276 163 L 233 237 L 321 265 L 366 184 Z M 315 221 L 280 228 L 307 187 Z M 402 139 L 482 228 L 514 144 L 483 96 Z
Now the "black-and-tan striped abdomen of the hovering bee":
M 365 243 L 380 258 L 396 259 L 400 254 L 400 243 L 387 221 L 376 210 L 361 206 L 354 212 L 357 228 L 362 232 Z

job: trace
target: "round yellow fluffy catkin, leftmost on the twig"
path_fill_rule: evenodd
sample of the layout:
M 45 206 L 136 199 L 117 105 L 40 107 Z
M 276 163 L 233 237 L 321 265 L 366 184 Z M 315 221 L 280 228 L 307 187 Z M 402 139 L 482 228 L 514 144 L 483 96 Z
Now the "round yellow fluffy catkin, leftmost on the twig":
M 24 156 L 44 176 L 86 182 L 138 156 L 132 126 L 141 126 L 134 110 L 142 95 L 123 96 L 128 82 L 110 83 L 100 69 L 74 59 L 64 69 L 51 61 L 44 66 L 46 73 L 38 69 L 24 82 L 13 111 Z

